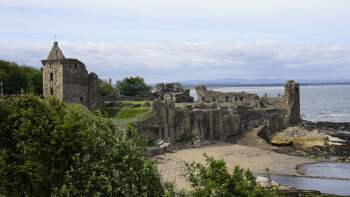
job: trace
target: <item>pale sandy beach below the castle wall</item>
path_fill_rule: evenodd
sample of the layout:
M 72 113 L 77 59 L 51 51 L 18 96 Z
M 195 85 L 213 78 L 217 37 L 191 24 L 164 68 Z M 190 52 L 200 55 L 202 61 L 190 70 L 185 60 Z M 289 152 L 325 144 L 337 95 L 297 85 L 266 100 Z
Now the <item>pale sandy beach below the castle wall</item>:
M 215 159 L 224 159 L 229 172 L 236 165 L 249 168 L 252 172 L 264 173 L 269 168 L 271 173 L 298 175 L 296 166 L 313 163 L 313 160 L 276 153 L 271 145 L 257 136 L 261 127 L 246 133 L 237 144 L 220 142 L 196 148 L 179 150 L 156 156 L 158 170 L 163 181 L 174 181 L 177 189 L 189 189 L 190 184 L 184 176 L 184 162 L 205 164 L 203 153 Z M 282 147 L 281 147 L 282 148 Z

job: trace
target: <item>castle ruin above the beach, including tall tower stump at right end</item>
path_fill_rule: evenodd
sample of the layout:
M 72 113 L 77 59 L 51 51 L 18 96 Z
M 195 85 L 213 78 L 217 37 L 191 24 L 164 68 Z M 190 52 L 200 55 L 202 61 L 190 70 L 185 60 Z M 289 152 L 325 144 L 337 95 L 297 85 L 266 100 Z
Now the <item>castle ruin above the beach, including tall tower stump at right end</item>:
M 211 103 L 175 108 L 173 102 L 156 101 L 152 106 L 155 115 L 137 122 L 137 128 L 146 141 L 162 139 L 170 144 L 191 139 L 201 143 L 234 142 L 245 132 L 262 125 L 265 126 L 260 135 L 267 137 L 300 123 L 299 84 L 287 81 L 284 88 L 282 97 L 259 98 L 256 94 L 221 93 L 197 86 L 200 101 L 205 99 Z M 221 100 L 233 105 L 221 105 Z

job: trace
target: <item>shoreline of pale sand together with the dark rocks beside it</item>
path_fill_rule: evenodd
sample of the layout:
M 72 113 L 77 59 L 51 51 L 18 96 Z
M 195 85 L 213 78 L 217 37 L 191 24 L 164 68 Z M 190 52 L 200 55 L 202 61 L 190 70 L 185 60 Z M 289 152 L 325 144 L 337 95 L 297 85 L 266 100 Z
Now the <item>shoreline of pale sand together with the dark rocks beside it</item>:
M 330 125 L 328 128 L 327 125 Z M 162 155 L 155 156 L 157 166 L 161 169 L 163 178 L 176 179 L 176 184 L 179 188 L 187 188 L 184 177 L 179 173 L 181 171 L 181 165 L 184 161 L 201 161 L 201 154 L 203 151 L 210 155 L 216 155 L 217 158 L 224 158 L 227 161 L 228 166 L 241 165 L 245 168 L 250 168 L 255 172 L 262 172 L 262 166 L 269 166 L 272 173 L 277 174 L 299 174 L 296 167 L 305 163 L 312 163 L 315 161 L 337 161 L 337 162 L 349 162 L 350 153 L 350 133 L 342 133 L 339 131 L 347 131 L 350 128 L 349 123 L 318 123 L 303 121 L 304 128 L 308 130 L 317 130 L 322 136 L 327 136 L 327 140 L 320 138 L 325 143 L 323 145 L 314 146 L 300 146 L 300 145 L 285 145 L 285 146 L 271 146 L 269 139 L 262 139 L 258 137 L 259 131 L 263 127 L 253 129 L 251 132 L 247 132 L 238 143 L 217 143 L 211 145 L 188 145 L 178 148 L 168 147 L 168 151 L 162 150 Z M 318 136 L 319 137 L 319 136 Z M 339 141 L 340 139 L 340 141 Z M 335 140 L 335 141 L 334 141 Z M 330 143 L 333 141 L 334 143 Z M 187 148 L 186 148 L 187 147 Z M 257 148 L 257 149 L 255 149 Z M 163 152 L 164 151 L 164 152 Z M 168 152 L 168 153 L 166 153 Z M 165 154 L 164 154 L 165 153 Z M 229 156 L 228 156 L 229 155 Z M 259 155 L 259 156 L 257 156 Z M 282 155 L 288 155 L 293 159 L 283 164 L 283 162 L 274 162 L 276 158 L 279 161 L 286 160 L 287 157 Z M 295 157 L 297 156 L 297 157 Z M 334 157 L 337 156 L 337 157 Z M 261 157 L 261 158 L 260 158 Z M 236 159 L 233 159 L 236 158 Z M 282 159 L 283 158 L 283 159 Z M 306 160 L 310 159 L 310 160 Z M 240 160 L 238 162 L 238 160 Z M 298 164 L 295 166 L 291 162 L 298 160 Z M 262 163 L 264 161 L 266 164 Z M 267 162 L 268 161 L 268 162 Z M 254 163 L 259 162 L 259 165 Z M 253 165 L 252 165 L 253 164 Z M 271 166 L 271 164 L 273 164 Z M 288 167 L 287 167 L 288 166 Z M 293 169 L 294 168 L 294 169 Z M 296 170 L 293 172 L 293 170 Z M 318 191 L 306 191 L 298 190 L 290 187 L 280 186 L 279 196 L 337 196 L 331 194 L 322 194 Z

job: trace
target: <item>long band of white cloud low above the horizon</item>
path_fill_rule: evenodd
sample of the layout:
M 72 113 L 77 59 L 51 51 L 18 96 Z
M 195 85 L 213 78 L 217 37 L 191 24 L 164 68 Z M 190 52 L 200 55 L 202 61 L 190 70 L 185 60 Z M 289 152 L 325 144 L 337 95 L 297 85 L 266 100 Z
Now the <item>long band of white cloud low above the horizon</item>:
M 0 42 L 0 59 L 40 67 L 52 43 Z M 59 42 L 67 58 L 84 62 L 101 78 L 143 76 L 148 82 L 187 79 L 273 78 L 347 79 L 350 47 L 337 44 L 285 45 L 248 42 Z

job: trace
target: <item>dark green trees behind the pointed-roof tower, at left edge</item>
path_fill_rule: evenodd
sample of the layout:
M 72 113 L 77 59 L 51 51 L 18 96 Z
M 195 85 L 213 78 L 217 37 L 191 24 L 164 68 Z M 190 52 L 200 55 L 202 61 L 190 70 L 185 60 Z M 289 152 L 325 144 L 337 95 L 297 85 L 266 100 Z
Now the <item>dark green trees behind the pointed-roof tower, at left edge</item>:
M 42 72 L 30 66 L 0 60 L 0 81 L 5 94 L 21 94 L 22 91 L 37 95 L 43 93 Z

